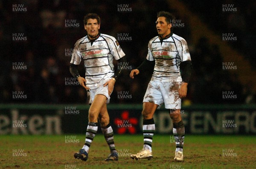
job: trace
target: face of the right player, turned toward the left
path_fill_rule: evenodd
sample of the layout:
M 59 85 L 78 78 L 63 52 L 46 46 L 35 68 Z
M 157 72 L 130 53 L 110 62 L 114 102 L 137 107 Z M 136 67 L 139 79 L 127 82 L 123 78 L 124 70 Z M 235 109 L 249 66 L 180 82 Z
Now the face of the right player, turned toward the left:
M 156 21 L 157 32 L 161 37 L 166 37 L 166 35 L 171 33 L 171 23 L 166 22 L 166 17 L 158 17 Z

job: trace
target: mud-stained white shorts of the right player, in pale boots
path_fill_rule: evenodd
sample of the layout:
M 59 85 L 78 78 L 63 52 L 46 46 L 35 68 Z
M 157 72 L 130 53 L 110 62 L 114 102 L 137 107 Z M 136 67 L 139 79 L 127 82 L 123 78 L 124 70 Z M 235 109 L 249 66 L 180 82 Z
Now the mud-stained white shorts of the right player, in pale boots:
M 181 77 L 172 78 L 172 82 L 150 81 L 143 103 L 151 102 L 159 106 L 164 103 L 166 109 L 180 109 L 181 99 L 179 97 L 178 89 L 181 84 Z

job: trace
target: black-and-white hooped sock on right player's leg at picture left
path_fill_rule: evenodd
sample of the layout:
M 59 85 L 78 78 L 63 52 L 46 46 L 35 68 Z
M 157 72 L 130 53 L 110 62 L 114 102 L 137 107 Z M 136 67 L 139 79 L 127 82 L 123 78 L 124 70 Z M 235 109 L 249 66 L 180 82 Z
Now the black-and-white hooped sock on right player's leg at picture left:
M 143 119 L 144 150 L 152 151 L 152 139 L 155 131 L 154 118 Z

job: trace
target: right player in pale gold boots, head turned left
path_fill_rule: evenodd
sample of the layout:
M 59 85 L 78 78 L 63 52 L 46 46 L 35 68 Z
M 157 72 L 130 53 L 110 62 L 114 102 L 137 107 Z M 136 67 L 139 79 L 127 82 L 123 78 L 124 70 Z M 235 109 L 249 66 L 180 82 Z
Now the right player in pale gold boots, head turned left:
M 144 146 L 132 159 L 153 158 L 152 138 L 155 124 L 153 115 L 157 107 L 165 104 L 170 110 L 173 123 L 176 150 L 174 160 L 183 161 L 184 124 L 180 115 L 181 98 L 186 97 L 192 63 L 189 49 L 182 37 L 173 33 L 172 21 L 175 17 L 166 11 L 157 13 L 156 28 L 158 36 L 148 43 L 148 55 L 143 63 L 131 71 L 134 79 L 141 71 L 154 69 L 151 81 L 143 99 Z

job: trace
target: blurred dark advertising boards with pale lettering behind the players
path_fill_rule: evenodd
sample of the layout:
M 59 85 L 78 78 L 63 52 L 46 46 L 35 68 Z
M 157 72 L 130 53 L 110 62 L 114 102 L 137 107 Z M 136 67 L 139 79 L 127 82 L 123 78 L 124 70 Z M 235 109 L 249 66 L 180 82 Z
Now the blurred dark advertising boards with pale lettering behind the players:
M 89 106 L 0 104 L 0 135 L 85 133 Z M 142 105 L 111 104 L 108 113 L 117 134 L 142 133 Z M 256 106 L 193 105 L 181 109 L 187 134 L 256 134 Z M 156 133 L 172 133 L 167 109 L 154 114 Z M 99 131 L 100 128 L 99 128 Z

